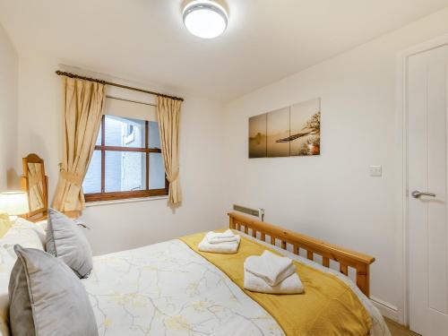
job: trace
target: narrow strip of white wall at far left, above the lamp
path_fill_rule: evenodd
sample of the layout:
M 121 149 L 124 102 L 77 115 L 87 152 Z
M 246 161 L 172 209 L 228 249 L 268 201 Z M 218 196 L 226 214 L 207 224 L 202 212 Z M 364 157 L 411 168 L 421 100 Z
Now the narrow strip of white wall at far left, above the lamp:
M 18 56 L 0 25 L 0 192 L 15 189 Z M 9 178 L 8 178 L 9 177 Z

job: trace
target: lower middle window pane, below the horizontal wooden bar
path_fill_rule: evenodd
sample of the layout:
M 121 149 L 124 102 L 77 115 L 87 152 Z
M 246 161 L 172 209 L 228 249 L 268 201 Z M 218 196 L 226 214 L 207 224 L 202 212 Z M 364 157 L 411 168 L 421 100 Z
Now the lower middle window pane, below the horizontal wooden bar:
M 106 151 L 105 191 L 146 189 L 146 156 L 135 151 Z

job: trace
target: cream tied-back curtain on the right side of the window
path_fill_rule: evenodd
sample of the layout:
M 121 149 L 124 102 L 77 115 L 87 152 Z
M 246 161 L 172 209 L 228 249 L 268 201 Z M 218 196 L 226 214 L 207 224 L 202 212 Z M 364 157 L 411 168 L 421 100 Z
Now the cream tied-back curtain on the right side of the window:
M 168 202 L 177 205 L 182 202 L 179 183 L 179 118 L 182 101 L 157 97 L 160 144 L 169 182 Z

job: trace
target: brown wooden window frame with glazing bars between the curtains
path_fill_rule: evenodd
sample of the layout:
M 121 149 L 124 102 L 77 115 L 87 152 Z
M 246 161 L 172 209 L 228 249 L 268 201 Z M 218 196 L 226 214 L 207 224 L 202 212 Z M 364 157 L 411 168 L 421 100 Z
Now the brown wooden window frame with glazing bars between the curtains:
M 150 189 L 150 153 L 161 153 L 159 148 L 149 147 L 149 121 L 145 120 L 145 146 L 144 148 L 106 146 L 106 116 L 101 117 L 101 144 L 95 146 L 94 151 L 101 152 L 101 192 L 94 194 L 84 194 L 86 202 L 125 200 L 130 198 L 165 196 L 168 195 L 169 183 L 165 175 L 165 188 Z M 134 190 L 125 192 L 106 193 L 106 151 L 134 151 L 145 153 L 146 156 L 146 188 L 144 190 Z

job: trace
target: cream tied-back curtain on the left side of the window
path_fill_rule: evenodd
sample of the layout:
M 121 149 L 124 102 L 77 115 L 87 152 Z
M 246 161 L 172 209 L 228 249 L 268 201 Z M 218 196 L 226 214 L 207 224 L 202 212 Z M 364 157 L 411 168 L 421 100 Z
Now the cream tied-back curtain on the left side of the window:
M 101 125 L 105 85 L 63 77 L 65 89 L 64 157 L 53 207 L 58 211 L 82 211 L 82 180 L 89 167 Z

